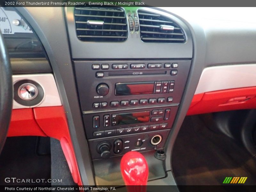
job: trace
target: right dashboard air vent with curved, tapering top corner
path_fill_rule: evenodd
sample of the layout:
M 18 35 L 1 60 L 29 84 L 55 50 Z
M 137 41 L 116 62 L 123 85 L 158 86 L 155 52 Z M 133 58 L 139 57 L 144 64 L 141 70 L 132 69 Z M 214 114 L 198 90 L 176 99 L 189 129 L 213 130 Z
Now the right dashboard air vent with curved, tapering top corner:
M 157 13 L 138 10 L 140 37 L 148 43 L 185 43 L 183 30 L 173 20 Z

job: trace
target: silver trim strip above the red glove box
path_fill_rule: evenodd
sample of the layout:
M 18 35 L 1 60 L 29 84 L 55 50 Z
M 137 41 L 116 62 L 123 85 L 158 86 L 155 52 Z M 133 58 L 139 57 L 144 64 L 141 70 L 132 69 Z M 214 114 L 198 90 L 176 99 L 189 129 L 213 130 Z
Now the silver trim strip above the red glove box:
M 222 65 L 205 68 L 195 94 L 256 86 L 256 64 Z

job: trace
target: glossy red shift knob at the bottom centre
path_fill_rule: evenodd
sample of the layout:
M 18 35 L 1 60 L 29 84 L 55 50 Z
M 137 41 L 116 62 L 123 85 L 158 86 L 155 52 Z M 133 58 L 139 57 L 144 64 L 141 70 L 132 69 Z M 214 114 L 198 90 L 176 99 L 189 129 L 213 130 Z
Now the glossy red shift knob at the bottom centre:
M 125 185 L 145 186 L 140 189 L 138 187 L 133 189 L 128 187 L 128 191 L 146 191 L 148 181 L 148 164 L 142 154 L 136 151 L 126 153 L 121 159 L 120 166 Z

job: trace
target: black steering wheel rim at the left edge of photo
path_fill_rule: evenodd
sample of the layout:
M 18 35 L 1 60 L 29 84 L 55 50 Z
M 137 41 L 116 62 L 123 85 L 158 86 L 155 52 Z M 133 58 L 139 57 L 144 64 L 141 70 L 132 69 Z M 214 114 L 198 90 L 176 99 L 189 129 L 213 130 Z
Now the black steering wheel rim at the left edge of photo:
M 12 68 L 0 31 L 0 154 L 4 147 L 12 115 Z

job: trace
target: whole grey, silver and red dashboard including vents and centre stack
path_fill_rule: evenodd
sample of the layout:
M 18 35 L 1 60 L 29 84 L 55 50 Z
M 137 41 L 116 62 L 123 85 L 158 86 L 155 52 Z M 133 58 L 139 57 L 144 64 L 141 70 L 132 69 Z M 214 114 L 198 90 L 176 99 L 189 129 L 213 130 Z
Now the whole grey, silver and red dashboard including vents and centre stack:
M 256 106 L 255 12 L 219 11 L 0 8 L 13 68 L 8 135 L 60 140 L 80 185 L 124 185 L 128 151 L 147 159 L 149 184 L 175 184 L 172 149 L 186 115 Z

